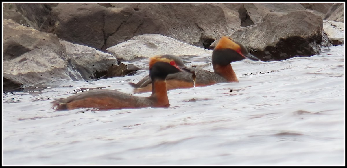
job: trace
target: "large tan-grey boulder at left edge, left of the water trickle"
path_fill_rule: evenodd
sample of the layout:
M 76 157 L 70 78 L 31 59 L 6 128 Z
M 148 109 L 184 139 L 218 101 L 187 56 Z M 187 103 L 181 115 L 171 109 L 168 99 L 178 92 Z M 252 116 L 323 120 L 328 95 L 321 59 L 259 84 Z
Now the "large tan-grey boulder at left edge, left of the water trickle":
M 56 35 L 13 20 L 3 20 L 2 61 L 3 78 L 21 87 L 54 79 L 82 79 L 68 67 L 65 47 Z

